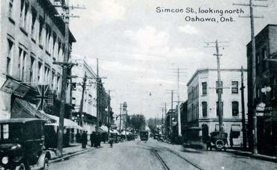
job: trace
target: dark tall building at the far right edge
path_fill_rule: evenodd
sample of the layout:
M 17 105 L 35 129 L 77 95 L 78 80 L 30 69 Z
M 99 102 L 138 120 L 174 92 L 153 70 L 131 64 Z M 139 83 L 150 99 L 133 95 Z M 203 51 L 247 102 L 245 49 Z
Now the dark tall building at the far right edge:
M 258 33 L 256 40 L 256 63 L 251 59 L 251 42 L 247 44 L 248 67 L 248 103 L 249 122 L 253 121 L 251 108 L 263 103 L 264 111 L 258 113 L 258 152 L 274 154 L 277 143 L 277 25 L 269 24 Z M 256 65 L 256 105 L 251 106 L 253 99 L 252 65 Z M 249 131 L 253 124 L 249 124 Z M 249 133 L 249 144 L 253 146 L 252 133 Z

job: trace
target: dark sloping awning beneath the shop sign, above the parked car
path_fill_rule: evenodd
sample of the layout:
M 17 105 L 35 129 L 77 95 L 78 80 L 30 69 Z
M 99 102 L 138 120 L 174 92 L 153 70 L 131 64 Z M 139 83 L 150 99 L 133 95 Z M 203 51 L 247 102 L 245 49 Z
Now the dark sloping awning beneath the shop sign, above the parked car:
M 53 119 L 52 117 L 48 117 L 48 115 L 43 111 L 36 110 L 35 105 L 32 105 L 28 101 L 24 101 L 18 98 L 16 98 L 15 101 L 12 103 L 11 117 L 12 118 L 36 117 L 39 119 L 44 119 L 48 121 L 48 123 L 55 122 L 55 119 Z

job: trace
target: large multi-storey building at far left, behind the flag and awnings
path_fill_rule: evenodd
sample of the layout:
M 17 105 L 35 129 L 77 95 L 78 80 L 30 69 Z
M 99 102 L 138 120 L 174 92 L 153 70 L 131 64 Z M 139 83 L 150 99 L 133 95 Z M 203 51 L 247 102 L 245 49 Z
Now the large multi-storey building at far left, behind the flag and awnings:
M 0 118 L 45 117 L 37 109 L 48 110 L 60 99 L 62 67 L 53 62 L 64 60 L 64 22 L 55 15 L 49 0 L 1 1 Z M 73 42 L 69 33 L 70 49 Z M 37 85 L 48 86 L 57 100 L 38 99 Z

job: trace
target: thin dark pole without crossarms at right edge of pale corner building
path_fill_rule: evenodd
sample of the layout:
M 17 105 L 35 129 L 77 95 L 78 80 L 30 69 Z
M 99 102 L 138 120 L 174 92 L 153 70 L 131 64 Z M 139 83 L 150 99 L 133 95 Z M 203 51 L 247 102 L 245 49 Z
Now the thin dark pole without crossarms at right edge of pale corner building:
M 241 90 L 241 94 L 242 94 L 242 144 L 243 144 L 243 148 L 244 150 L 247 148 L 247 129 L 245 127 L 245 111 L 244 111 L 244 83 L 243 83 L 243 79 L 244 79 L 244 76 L 243 76 L 243 66 L 242 66 L 242 69 L 241 69 L 241 87 L 240 87 L 240 90 Z

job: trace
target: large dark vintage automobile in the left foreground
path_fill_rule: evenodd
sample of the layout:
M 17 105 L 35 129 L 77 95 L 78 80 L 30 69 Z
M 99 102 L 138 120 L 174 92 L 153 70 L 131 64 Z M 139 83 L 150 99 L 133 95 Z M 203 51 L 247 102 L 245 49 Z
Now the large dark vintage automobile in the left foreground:
M 48 169 L 43 119 L 0 120 L 0 169 Z

